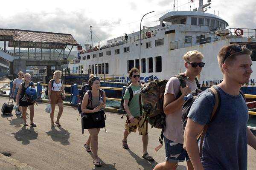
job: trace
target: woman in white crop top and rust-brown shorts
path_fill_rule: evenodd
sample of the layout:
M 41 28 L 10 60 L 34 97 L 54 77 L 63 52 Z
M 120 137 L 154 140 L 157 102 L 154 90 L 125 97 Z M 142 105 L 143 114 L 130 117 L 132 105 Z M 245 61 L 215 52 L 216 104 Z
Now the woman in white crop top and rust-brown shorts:
M 61 126 L 59 120 L 61 118 L 61 115 L 63 113 L 63 99 L 65 99 L 65 91 L 63 87 L 63 83 L 61 81 L 61 71 L 56 70 L 53 73 L 53 79 L 51 79 L 48 83 L 48 96 L 49 96 L 49 103 L 52 107 L 52 112 L 50 114 L 51 118 L 51 126 Z M 55 105 L 58 105 L 59 112 L 57 116 L 57 120 L 54 123 L 54 111 L 55 111 Z

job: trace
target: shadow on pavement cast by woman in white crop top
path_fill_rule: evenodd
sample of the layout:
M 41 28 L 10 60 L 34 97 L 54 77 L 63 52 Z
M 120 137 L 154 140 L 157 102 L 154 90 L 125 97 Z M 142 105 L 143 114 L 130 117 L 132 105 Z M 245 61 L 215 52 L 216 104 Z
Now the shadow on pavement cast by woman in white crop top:
M 60 130 L 57 130 L 59 128 Z M 60 142 L 63 145 L 69 145 L 70 142 L 68 139 L 70 138 L 70 133 L 68 130 L 65 130 L 62 127 L 52 126 L 52 130 L 46 132 L 48 136 L 51 136 L 52 140 L 55 142 Z

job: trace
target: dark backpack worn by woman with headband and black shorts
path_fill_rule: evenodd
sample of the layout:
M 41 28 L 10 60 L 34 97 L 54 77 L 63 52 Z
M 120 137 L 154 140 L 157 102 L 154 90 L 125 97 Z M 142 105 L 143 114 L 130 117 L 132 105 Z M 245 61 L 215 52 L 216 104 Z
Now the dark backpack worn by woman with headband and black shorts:
M 78 104 L 77 110 L 78 110 L 79 114 L 81 114 L 81 116 L 82 116 L 81 105 L 82 105 L 82 102 L 84 99 L 84 94 L 88 93 L 88 95 L 89 95 L 88 103 L 90 103 L 92 101 L 93 95 L 92 95 L 92 91 L 90 91 L 90 87 L 88 84 L 85 84 L 81 88 L 79 88 L 78 92 L 79 92 L 79 96 L 80 96 L 79 97 L 80 102 L 77 103 Z M 99 89 L 99 95 L 100 95 L 100 97 L 104 96 L 104 91 L 102 89 Z

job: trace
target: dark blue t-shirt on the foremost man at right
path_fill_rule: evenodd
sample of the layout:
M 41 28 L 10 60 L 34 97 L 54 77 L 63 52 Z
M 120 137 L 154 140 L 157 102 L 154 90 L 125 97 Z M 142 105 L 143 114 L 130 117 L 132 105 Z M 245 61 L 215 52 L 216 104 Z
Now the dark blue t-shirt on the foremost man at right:
M 232 96 L 219 86 L 214 87 L 218 89 L 221 103 L 212 120 L 209 122 L 215 98 L 208 90 L 195 99 L 188 115 L 200 125 L 209 124 L 203 143 L 202 164 L 205 170 L 246 170 L 249 117 L 246 102 L 241 94 Z

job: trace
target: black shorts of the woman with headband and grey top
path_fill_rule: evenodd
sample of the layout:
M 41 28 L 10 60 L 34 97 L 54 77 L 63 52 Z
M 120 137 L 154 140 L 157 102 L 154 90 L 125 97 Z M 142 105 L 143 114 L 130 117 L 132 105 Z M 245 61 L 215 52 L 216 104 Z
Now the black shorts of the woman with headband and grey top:
M 86 117 L 82 118 L 84 129 L 93 129 L 93 128 L 103 128 L 103 127 L 105 127 L 105 119 L 104 119 L 105 112 L 103 110 L 99 111 L 99 112 L 101 113 L 102 119 L 101 119 L 101 121 L 98 121 L 98 122 L 93 121 L 91 113 L 85 113 Z

